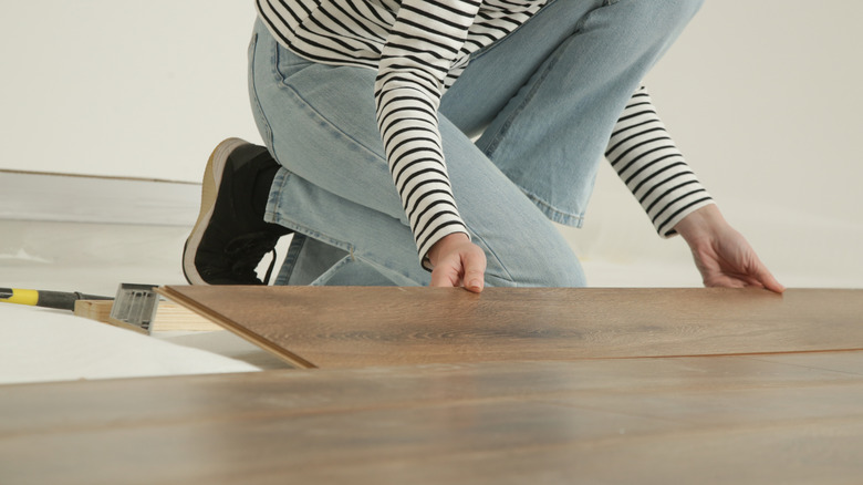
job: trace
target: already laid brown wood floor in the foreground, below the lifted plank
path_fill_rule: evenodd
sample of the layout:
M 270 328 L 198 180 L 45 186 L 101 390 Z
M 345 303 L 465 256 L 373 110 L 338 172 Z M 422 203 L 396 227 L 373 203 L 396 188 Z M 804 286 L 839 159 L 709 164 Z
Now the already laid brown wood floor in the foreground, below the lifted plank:
M 851 484 L 863 352 L 10 385 L 0 483 Z

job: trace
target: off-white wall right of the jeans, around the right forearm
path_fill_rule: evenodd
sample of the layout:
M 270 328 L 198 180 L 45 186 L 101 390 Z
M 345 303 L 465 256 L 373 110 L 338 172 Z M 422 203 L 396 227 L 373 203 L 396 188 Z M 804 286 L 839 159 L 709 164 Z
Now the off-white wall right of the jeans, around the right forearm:
M 645 81 L 727 218 L 787 285 L 863 287 L 861 23 L 853 0 L 707 0 Z M 573 235 L 582 252 L 688 265 L 626 198 L 606 171 Z

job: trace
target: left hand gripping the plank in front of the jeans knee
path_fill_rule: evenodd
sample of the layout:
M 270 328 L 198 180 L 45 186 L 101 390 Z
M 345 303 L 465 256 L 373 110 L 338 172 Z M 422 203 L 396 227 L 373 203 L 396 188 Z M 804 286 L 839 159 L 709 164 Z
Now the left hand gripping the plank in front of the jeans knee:
M 486 286 L 486 252 L 464 233 L 445 236 L 428 251 L 433 287 L 465 287 L 478 293 Z

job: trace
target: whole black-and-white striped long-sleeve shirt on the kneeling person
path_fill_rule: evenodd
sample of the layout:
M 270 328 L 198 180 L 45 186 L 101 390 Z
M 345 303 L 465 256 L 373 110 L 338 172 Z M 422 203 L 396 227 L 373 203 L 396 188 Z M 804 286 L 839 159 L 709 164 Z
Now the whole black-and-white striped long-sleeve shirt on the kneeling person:
M 470 54 L 506 37 L 545 0 L 256 0 L 269 30 L 312 61 L 374 69 L 376 121 L 420 260 L 468 234 L 449 184 L 437 112 Z M 644 104 L 644 103 L 647 104 Z M 607 156 L 661 235 L 709 196 L 637 92 Z

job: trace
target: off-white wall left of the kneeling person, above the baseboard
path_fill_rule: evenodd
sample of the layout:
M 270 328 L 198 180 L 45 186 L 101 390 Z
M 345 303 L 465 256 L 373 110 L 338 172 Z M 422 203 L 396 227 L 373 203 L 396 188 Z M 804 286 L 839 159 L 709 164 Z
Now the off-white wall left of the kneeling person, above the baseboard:
M 0 3 L 0 168 L 197 180 L 215 143 L 258 137 L 253 20 L 241 0 Z

